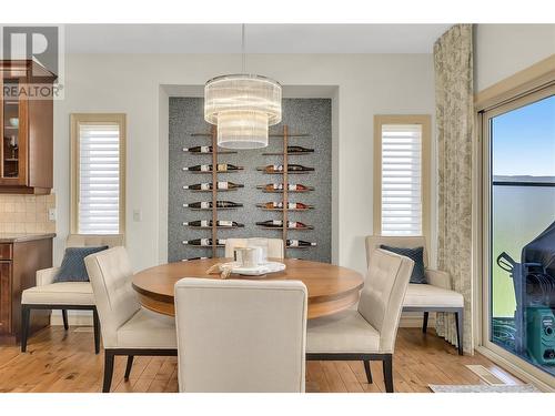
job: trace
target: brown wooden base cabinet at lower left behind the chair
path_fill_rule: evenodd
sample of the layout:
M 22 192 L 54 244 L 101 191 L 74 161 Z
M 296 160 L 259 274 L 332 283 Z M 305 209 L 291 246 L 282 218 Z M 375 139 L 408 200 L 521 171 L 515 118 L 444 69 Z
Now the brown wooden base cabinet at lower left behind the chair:
M 0 344 L 21 332 L 21 292 L 37 285 L 37 271 L 52 266 L 54 234 L 0 237 Z M 31 332 L 50 323 L 50 311 L 33 311 Z

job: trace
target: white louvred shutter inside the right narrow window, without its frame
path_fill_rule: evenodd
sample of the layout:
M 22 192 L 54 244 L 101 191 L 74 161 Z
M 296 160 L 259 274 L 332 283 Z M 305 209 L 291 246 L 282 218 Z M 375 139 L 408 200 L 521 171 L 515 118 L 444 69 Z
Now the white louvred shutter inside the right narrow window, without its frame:
M 422 125 L 382 125 L 382 235 L 422 235 Z

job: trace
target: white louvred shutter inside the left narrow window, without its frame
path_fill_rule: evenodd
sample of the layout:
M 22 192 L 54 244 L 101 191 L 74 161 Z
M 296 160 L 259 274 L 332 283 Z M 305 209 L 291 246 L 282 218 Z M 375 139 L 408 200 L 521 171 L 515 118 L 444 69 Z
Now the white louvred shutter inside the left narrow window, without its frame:
M 120 126 L 79 124 L 80 234 L 120 233 Z

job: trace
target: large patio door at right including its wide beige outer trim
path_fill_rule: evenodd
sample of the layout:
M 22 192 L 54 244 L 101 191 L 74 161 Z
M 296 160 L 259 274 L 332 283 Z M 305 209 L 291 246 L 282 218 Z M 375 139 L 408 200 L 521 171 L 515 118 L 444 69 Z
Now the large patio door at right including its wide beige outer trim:
M 474 108 L 476 349 L 523 381 L 553 389 L 554 57 L 480 91 Z

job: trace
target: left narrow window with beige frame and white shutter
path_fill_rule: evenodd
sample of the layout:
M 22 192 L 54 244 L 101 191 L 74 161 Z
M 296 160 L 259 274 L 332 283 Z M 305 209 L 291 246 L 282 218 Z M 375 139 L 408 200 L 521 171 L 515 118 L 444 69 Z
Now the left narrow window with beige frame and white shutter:
M 71 232 L 123 234 L 125 114 L 71 115 Z

